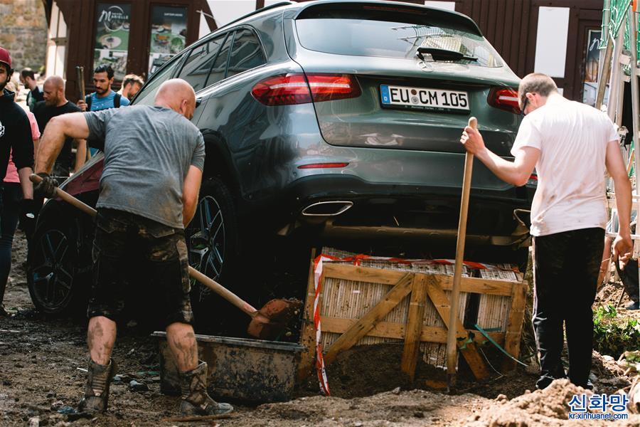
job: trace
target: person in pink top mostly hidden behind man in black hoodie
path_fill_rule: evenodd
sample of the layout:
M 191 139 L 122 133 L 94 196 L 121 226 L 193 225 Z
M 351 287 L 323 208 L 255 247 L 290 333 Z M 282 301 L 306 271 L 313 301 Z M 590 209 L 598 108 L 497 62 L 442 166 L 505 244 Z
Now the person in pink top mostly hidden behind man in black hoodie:
M 17 94 L 18 85 L 10 81 L 6 85 L 6 90 Z M 37 150 L 38 140 L 40 139 L 38 122 L 36 122 L 36 116 L 34 116 L 31 111 L 27 111 L 26 115 L 31 125 L 33 145 Z M 20 177 L 18 176 L 16 164 L 14 164 L 12 156 L 10 156 L 9 164 L 6 167 L 6 175 L 2 183 L 2 211 L 0 213 L 0 224 L 2 224 L 0 227 L 0 301 L 3 300 L 6 283 L 7 280 L 9 280 L 9 271 L 11 271 L 11 251 L 14 245 L 14 233 L 16 233 L 16 226 L 18 226 L 21 203 L 22 188 L 20 186 Z

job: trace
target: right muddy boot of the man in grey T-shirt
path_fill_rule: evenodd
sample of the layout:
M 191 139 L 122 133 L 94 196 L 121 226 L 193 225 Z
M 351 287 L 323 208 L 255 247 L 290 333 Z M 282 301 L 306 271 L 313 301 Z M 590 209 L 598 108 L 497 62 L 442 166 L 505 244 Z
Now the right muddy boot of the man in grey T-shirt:
M 207 393 L 207 364 L 200 362 L 196 369 L 180 374 L 183 415 L 221 415 L 233 411 L 230 404 L 218 404 Z

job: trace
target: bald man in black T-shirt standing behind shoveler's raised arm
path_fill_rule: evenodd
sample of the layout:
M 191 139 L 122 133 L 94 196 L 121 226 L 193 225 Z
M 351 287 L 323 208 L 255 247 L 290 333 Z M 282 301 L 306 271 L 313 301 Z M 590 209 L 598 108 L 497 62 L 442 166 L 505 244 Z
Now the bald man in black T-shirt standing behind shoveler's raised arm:
M 65 97 L 65 82 L 57 75 L 52 75 L 44 83 L 44 101 L 38 102 L 33 109 L 33 115 L 36 116 L 40 132 L 44 133 L 45 127 L 51 117 L 66 114 L 68 112 L 78 112 L 80 108 Z M 87 157 L 87 144 L 84 139 L 78 141 L 78 149 L 75 156 L 75 167 L 73 167 L 73 156 L 71 148 L 73 147 L 73 139 L 65 139 L 58 158 L 55 159 L 53 165 L 54 176 L 69 176 L 69 172 L 77 171 L 85 164 Z

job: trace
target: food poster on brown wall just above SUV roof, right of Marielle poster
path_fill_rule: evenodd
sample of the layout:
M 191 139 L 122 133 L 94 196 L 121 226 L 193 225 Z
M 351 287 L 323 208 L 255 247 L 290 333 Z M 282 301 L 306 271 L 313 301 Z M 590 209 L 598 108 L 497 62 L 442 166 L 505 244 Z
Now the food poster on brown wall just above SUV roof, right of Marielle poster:
M 186 7 L 151 8 L 149 75 L 186 46 L 186 21 Z

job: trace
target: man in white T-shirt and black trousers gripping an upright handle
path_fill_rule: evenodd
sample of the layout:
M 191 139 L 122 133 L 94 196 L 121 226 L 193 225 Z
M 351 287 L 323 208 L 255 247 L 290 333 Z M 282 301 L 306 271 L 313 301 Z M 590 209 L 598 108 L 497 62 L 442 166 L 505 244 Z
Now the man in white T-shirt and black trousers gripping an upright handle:
M 614 255 L 631 257 L 631 184 L 609 117 L 588 105 L 565 99 L 553 80 L 527 75 L 518 97 L 524 117 L 511 154 L 498 157 L 480 132 L 465 127 L 460 142 L 498 178 L 526 184 L 533 168 L 538 189 L 531 206 L 533 236 L 533 328 L 540 352 L 538 389 L 563 378 L 560 361 L 567 331 L 572 383 L 592 388 L 593 305 L 607 225 L 605 172 L 614 179 L 620 230 Z M 474 218 L 469 218 L 474 221 Z

